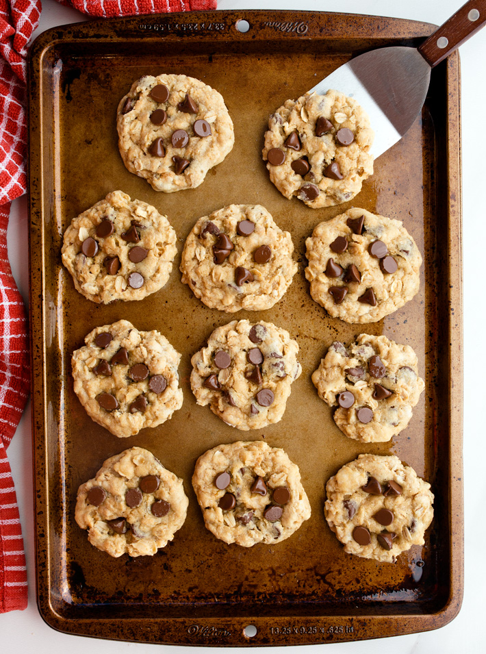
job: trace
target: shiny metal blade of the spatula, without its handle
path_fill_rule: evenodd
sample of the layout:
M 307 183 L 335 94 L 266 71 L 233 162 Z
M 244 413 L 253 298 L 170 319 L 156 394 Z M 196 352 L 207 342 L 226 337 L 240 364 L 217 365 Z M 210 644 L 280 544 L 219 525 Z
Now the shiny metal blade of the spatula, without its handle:
M 311 91 L 333 88 L 354 98 L 370 116 L 376 159 L 411 127 L 424 104 L 431 66 L 416 48 L 372 50 L 350 60 L 322 79 Z

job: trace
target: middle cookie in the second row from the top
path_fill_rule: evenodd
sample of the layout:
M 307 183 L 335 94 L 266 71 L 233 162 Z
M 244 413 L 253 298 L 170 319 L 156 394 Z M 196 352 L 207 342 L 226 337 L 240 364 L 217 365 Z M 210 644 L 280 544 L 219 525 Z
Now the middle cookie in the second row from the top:
M 270 309 L 292 283 L 294 244 L 261 205 L 199 218 L 182 253 L 182 281 L 210 309 Z

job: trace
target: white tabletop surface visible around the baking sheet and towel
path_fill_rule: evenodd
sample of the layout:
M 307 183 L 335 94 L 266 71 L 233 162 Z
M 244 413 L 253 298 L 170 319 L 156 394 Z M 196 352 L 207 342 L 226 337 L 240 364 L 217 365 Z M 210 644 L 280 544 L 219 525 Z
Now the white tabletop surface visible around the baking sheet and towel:
M 43 0 L 40 27 L 36 34 L 55 25 L 76 23 L 84 16 L 54 0 Z M 452 15 L 461 0 L 218 0 L 221 10 L 299 9 L 340 11 L 397 16 L 441 24 Z M 464 260 L 464 483 L 465 483 L 465 594 L 459 616 L 442 629 L 411 636 L 366 642 L 294 647 L 293 652 L 316 654 L 457 654 L 486 651 L 481 624 L 484 620 L 486 585 L 486 457 L 485 399 L 481 381 L 485 376 L 483 353 L 486 319 L 485 300 L 485 154 L 486 154 L 486 27 L 461 47 L 462 134 L 463 134 L 463 260 Z M 8 230 L 12 270 L 25 300 L 28 298 L 27 201 L 14 201 Z M 29 606 L 23 612 L 0 615 L 0 643 L 5 652 L 36 654 L 111 654 L 155 651 L 183 653 L 189 648 L 149 644 L 87 640 L 57 633 L 44 624 L 36 606 L 34 563 L 34 517 L 30 410 L 27 407 L 8 450 L 21 512 L 27 553 Z M 107 636 L 110 636 L 107 633 Z M 210 648 L 203 648 L 204 650 Z M 263 648 L 258 648 L 263 649 Z M 235 649 L 231 649 L 234 651 Z M 278 654 L 278 649 L 274 649 Z M 199 649 L 201 651 L 201 649 Z M 254 650 L 255 651 L 255 650 Z M 287 649 L 287 652 L 290 650 Z

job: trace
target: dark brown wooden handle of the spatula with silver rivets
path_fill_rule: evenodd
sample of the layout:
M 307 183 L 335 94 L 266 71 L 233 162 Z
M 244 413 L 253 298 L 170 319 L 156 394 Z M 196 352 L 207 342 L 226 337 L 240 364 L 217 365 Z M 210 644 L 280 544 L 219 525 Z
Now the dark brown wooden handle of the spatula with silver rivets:
M 486 23 L 486 0 L 469 0 L 422 43 L 418 51 L 432 67 L 476 34 Z

